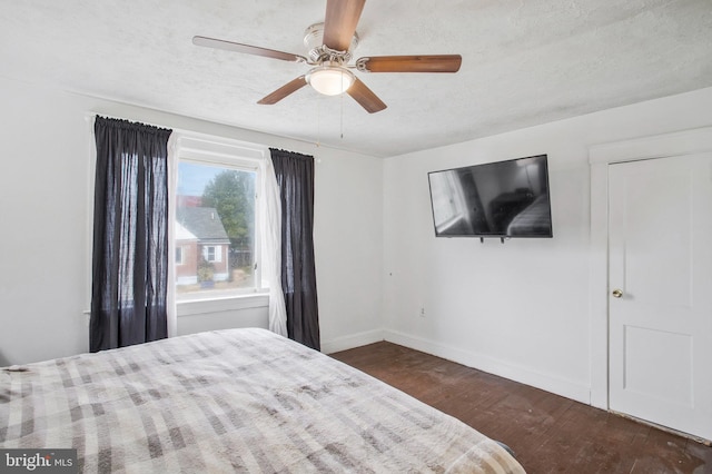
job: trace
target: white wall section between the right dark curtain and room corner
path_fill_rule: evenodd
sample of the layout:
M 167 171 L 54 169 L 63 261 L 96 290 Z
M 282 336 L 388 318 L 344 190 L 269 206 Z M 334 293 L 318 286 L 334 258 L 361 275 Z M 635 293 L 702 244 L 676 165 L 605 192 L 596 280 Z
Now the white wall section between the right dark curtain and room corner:
M 383 159 L 332 151 L 316 181 L 322 352 L 383 340 Z

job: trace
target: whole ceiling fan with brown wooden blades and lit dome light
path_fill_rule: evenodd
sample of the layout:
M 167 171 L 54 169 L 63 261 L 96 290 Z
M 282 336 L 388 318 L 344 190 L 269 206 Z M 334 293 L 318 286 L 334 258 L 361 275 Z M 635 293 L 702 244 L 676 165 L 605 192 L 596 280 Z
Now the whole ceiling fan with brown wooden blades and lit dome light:
M 313 24 L 305 32 L 308 58 L 258 46 L 243 45 L 196 36 L 192 43 L 247 55 L 264 56 L 284 61 L 314 66 L 306 75 L 287 82 L 257 103 L 273 105 L 301 89 L 307 83 L 327 96 L 348 93 L 366 111 L 374 113 L 386 105 L 350 69 L 360 72 L 457 72 L 459 55 L 372 56 L 349 65 L 352 51 L 358 45 L 356 24 L 366 0 L 327 0 L 324 23 Z

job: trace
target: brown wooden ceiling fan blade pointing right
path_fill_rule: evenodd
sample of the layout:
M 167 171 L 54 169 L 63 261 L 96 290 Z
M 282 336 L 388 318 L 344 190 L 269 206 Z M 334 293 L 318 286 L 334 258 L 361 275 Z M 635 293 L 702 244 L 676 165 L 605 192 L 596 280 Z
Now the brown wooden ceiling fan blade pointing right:
M 374 56 L 359 58 L 356 68 L 367 72 L 457 72 L 463 57 L 433 56 Z

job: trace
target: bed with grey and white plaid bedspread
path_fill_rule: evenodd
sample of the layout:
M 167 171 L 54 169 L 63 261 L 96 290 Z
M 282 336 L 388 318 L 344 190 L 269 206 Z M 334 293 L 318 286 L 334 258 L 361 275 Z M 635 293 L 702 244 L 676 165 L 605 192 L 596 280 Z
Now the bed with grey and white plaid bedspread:
M 0 448 L 80 472 L 523 473 L 496 442 L 265 329 L 0 369 Z

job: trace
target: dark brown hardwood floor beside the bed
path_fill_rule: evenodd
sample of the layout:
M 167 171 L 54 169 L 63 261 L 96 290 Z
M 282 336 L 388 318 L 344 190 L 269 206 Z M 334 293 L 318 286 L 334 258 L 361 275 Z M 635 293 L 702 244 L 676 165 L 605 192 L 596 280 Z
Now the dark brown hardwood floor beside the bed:
M 507 444 L 527 473 L 712 473 L 712 447 L 390 343 L 332 357 Z

